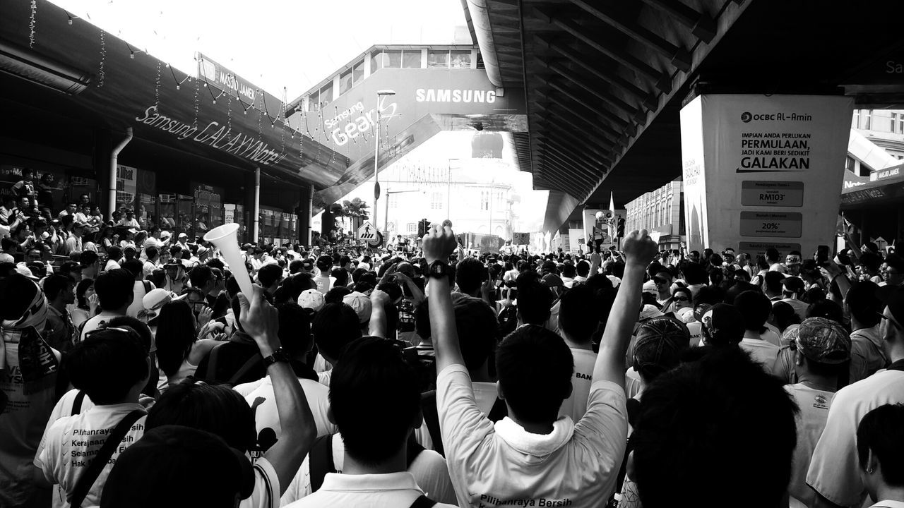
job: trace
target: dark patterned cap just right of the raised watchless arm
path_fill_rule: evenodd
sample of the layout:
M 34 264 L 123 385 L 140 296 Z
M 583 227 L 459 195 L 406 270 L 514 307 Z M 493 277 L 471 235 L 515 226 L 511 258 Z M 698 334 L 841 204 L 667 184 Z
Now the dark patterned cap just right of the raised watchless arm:
M 637 372 L 660 373 L 673 369 L 690 342 L 691 332 L 683 323 L 666 315 L 650 319 L 637 329 L 634 346 Z

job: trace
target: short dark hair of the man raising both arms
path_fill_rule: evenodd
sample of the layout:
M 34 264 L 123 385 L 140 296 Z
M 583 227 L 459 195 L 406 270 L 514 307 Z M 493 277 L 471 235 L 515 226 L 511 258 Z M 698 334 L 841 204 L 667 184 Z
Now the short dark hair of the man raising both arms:
M 540 325 L 516 329 L 496 350 L 496 373 L 503 396 L 524 421 L 555 420 L 562 401 L 570 395 L 573 372 L 574 358 L 568 345 Z

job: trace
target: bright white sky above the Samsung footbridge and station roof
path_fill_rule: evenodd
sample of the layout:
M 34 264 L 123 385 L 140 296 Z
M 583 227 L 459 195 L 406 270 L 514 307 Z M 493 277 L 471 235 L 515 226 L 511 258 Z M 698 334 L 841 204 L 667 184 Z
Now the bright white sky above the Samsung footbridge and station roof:
M 447 44 L 466 25 L 459 0 L 51 2 L 176 69 L 196 75 L 202 52 L 288 100 L 373 44 Z

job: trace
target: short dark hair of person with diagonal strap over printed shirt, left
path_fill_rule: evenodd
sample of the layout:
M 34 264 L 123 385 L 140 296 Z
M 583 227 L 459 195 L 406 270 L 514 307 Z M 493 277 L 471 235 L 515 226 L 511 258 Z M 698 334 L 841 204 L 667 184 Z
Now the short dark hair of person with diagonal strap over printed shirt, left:
M 95 404 L 117 404 L 147 377 L 147 351 L 137 334 L 101 330 L 75 344 L 63 356 L 62 369 Z

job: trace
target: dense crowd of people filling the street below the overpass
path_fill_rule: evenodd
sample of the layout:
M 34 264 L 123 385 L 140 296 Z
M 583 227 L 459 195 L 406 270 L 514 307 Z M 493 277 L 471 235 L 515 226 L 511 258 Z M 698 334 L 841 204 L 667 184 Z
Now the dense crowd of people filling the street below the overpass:
M 470 255 L 447 221 L 236 267 L 70 206 L 0 209 L 0 506 L 904 506 L 870 243 Z

